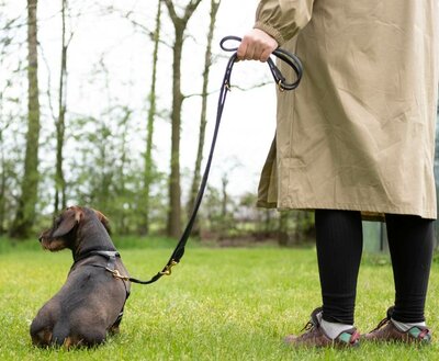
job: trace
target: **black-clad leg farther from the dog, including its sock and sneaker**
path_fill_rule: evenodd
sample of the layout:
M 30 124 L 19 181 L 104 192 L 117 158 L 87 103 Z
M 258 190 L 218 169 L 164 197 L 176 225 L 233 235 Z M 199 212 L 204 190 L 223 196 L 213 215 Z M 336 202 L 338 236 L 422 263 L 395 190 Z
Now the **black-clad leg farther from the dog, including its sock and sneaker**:
M 434 222 L 412 215 L 386 214 L 389 248 L 395 283 L 395 305 L 364 339 L 430 343 L 424 307 L 430 273 Z

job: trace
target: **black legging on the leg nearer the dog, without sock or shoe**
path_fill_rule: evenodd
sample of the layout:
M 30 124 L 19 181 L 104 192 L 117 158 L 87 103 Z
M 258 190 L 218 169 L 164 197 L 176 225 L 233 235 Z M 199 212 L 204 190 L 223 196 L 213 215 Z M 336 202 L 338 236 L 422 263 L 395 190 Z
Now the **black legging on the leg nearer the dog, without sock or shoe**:
M 323 319 L 353 325 L 363 246 L 361 213 L 316 210 L 315 227 Z

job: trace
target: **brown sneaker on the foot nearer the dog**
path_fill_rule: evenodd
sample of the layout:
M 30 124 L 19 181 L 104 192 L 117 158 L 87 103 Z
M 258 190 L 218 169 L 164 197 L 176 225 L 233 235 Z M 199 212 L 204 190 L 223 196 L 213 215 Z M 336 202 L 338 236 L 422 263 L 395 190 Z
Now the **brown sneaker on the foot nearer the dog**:
M 313 311 L 311 314 L 311 320 L 302 329 L 303 332 L 300 336 L 289 335 L 284 341 L 288 345 L 294 347 L 356 347 L 359 346 L 360 334 L 354 327 L 349 330 L 342 331 L 335 339 L 328 337 L 325 330 L 318 323 L 317 315 L 322 312 L 322 307 Z

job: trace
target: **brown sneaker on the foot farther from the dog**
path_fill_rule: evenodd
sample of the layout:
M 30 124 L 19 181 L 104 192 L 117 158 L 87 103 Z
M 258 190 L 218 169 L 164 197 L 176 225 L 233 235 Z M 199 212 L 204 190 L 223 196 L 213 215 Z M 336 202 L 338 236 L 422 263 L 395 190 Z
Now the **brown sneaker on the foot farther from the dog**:
M 394 306 L 387 309 L 387 316 L 382 319 L 375 329 L 367 335 L 363 335 L 364 340 L 387 342 L 387 341 L 399 341 L 405 343 L 430 343 L 431 331 L 425 326 L 414 326 L 407 331 L 401 331 L 392 323 L 392 314 Z

